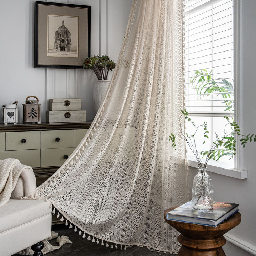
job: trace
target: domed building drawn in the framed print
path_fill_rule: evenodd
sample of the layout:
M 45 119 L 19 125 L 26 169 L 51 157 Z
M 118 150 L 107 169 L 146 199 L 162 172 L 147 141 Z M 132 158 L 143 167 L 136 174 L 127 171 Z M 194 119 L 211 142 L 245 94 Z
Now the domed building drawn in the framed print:
M 62 26 L 55 32 L 54 51 L 71 52 L 71 45 L 71 34 L 68 28 L 64 26 L 64 18 L 62 18 Z

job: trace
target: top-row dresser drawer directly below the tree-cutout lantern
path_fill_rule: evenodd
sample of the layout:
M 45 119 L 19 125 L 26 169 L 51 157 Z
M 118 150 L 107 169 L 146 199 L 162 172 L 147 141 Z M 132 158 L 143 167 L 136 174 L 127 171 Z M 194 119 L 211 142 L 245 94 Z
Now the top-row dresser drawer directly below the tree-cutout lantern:
M 40 149 L 40 131 L 6 133 L 6 150 L 25 149 Z

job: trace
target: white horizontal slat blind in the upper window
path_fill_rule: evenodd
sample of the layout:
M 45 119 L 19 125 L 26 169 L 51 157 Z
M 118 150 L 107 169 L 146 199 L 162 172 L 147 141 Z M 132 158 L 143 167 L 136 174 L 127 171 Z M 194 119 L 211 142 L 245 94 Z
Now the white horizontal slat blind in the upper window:
M 232 116 L 233 0 L 183 2 L 186 109 Z

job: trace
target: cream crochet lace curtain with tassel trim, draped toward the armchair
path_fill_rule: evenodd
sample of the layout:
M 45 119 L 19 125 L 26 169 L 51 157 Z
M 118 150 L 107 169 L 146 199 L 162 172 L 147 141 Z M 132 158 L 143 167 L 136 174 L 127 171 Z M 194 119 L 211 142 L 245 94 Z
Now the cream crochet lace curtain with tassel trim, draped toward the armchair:
M 179 249 L 164 211 L 187 201 L 185 144 L 177 141 L 175 151 L 168 141 L 183 128 L 182 7 L 182 0 L 133 1 L 90 129 L 33 194 L 48 198 L 61 220 L 102 245 Z

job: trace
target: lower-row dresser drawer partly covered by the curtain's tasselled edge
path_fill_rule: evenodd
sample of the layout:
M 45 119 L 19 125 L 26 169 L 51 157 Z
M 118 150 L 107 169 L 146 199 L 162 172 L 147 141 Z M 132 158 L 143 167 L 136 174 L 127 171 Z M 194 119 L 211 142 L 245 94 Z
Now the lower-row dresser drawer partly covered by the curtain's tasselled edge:
M 75 148 L 41 149 L 41 167 L 60 166 L 70 156 Z

